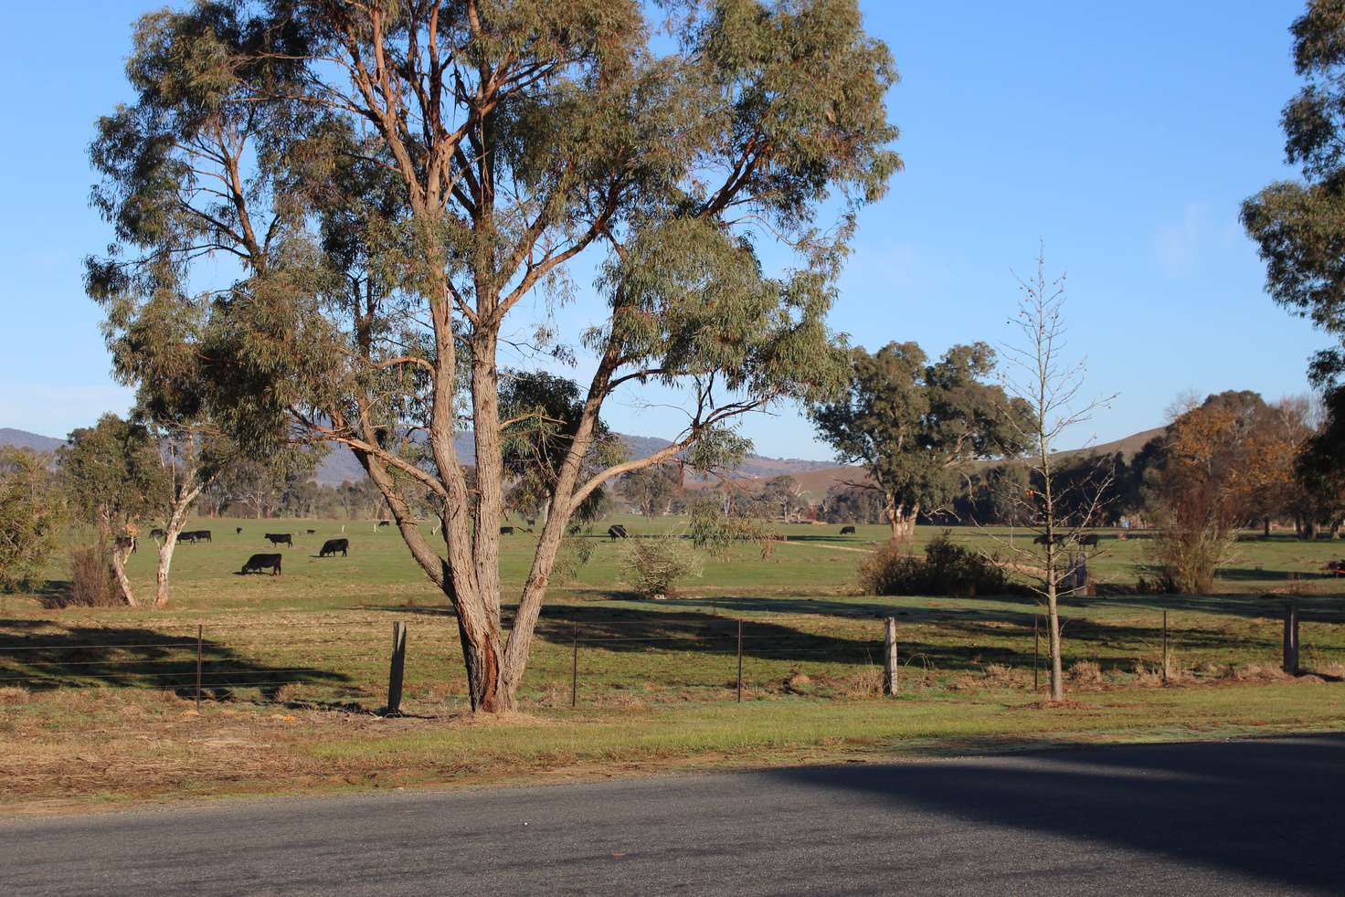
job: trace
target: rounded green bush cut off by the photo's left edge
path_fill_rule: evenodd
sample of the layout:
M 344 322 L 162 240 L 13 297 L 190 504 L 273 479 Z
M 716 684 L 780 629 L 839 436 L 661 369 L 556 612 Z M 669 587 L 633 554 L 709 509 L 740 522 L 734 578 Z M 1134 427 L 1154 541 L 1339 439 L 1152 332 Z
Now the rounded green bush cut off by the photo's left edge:
M 28 588 L 56 550 L 65 499 L 48 459 L 0 448 L 0 589 Z

